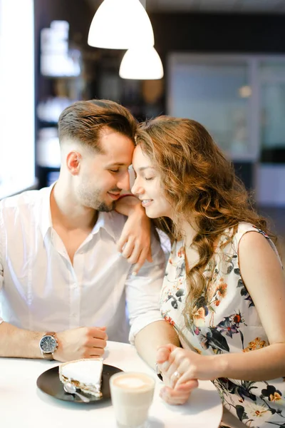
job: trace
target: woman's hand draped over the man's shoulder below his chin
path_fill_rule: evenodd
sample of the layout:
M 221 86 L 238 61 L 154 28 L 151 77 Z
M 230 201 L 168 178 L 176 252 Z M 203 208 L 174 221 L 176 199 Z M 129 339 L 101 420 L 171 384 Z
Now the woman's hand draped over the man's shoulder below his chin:
M 151 223 L 150 219 L 145 214 L 145 209 L 142 207 L 140 200 L 132 196 L 126 196 L 122 200 L 125 203 L 124 209 L 126 210 L 127 200 L 130 200 L 128 205 L 128 220 L 125 222 L 120 240 L 118 241 L 118 251 L 128 263 L 135 265 L 133 267 L 133 275 L 136 275 L 145 260 L 152 262 L 151 248 L 150 248 L 150 235 Z M 124 201 L 124 202 L 123 202 Z M 116 210 L 119 213 L 126 211 L 120 205 L 116 205 Z

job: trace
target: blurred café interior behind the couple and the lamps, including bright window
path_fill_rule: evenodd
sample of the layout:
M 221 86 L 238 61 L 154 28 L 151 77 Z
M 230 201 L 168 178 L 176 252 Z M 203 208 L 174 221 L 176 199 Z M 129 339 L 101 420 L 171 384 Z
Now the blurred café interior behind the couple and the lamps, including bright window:
M 108 98 L 139 121 L 206 126 L 284 252 L 285 0 L 144 1 L 164 68 L 156 80 L 121 78 L 125 51 L 88 45 L 101 3 L 0 0 L 0 198 L 53 183 L 59 114 Z

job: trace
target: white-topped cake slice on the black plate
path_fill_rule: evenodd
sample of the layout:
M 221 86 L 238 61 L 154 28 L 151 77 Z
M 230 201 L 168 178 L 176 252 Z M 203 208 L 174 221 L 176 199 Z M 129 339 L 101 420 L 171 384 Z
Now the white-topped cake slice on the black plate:
M 71 382 L 76 388 L 87 394 L 100 398 L 103 358 L 83 358 L 82 360 L 64 362 L 59 366 L 61 382 Z

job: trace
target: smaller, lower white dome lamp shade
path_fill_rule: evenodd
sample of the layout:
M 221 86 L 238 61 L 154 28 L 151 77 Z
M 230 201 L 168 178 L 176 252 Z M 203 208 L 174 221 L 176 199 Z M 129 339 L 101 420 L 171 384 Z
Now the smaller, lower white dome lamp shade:
M 126 51 L 120 63 L 120 77 L 153 80 L 163 77 L 160 56 L 153 46 Z

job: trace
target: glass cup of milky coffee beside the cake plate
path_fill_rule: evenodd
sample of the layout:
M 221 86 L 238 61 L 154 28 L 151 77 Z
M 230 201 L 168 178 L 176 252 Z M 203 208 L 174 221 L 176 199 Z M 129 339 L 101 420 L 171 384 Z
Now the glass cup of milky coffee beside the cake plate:
M 155 379 L 140 372 L 110 377 L 110 392 L 118 428 L 145 428 L 152 404 Z

